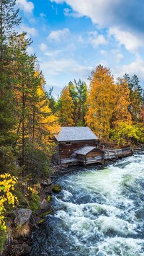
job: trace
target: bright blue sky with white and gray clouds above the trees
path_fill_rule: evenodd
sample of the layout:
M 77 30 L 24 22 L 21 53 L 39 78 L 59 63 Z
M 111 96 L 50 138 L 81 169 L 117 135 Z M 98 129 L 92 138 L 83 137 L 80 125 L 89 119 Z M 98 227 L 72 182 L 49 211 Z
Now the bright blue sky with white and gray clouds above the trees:
M 144 88 L 143 0 L 17 0 L 48 90 L 56 97 L 73 79 L 86 81 L 97 65 L 114 79 L 136 74 Z

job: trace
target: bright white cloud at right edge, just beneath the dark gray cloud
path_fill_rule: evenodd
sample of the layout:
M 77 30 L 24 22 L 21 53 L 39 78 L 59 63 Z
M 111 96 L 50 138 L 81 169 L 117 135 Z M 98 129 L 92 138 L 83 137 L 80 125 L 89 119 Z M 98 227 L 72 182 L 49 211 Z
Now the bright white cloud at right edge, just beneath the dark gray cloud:
M 109 35 L 114 35 L 115 40 L 121 45 L 125 45 L 125 48 L 132 53 L 135 53 L 139 47 L 143 47 L 144 37 L 132 35 L 130 32 L 122 31 L 117 27 L 110 28 Z

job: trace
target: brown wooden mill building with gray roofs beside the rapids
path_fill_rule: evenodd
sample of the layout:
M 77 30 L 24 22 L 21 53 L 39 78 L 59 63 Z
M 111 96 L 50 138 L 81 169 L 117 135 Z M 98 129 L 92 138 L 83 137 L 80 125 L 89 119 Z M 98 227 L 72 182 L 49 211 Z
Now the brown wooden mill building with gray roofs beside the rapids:
M 102 151 L 97 148 L 98 138 L 89 127 L 62 127 L 55 136 L 58 164 L 102 162 Z

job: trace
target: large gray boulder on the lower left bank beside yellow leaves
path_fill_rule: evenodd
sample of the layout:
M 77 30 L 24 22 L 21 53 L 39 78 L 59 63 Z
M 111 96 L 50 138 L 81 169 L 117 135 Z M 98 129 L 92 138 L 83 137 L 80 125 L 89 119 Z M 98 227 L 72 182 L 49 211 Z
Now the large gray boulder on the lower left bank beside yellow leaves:
M 15 212 L 15 216 L 16 218 L 14 219 L 14 224 L 16 224 L 16 226 L 17 225 L 22 226 L 27 222 L 30 222 L 30 217 L 32 216 L 32 210 L 25 209 L 25 208 L 18 209 Z

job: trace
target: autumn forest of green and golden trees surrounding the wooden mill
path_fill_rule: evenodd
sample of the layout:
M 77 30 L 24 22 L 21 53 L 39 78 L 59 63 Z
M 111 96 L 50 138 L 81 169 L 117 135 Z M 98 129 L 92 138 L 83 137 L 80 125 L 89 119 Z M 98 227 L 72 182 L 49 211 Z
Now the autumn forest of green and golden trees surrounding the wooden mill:
M 70 81 L 58 99 L 45 91 L 32 41 L 17 33 L 22 19 L 15 0 L 0 1 L 0 251 L 14 208 L 40 205 L 40 179 L 53 172 L 53 136 L 60 126 L 89 126 L 102 143 L 144 143 L 144 91 L 138 76 L 114 81 L 96 66 L 85 81 Z M 35 202 L 35 203 L 34 203 Z

